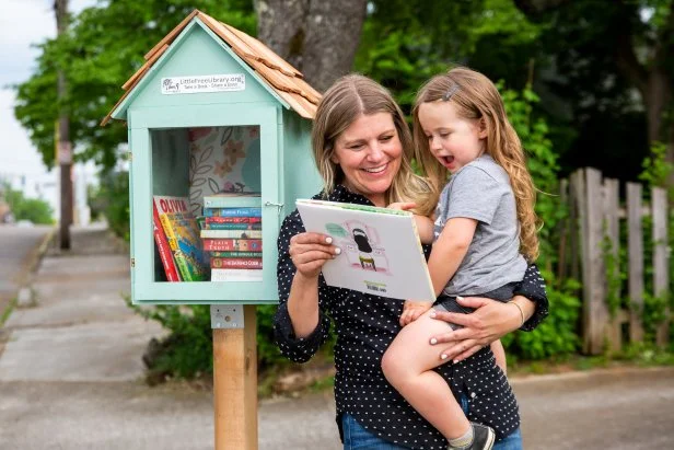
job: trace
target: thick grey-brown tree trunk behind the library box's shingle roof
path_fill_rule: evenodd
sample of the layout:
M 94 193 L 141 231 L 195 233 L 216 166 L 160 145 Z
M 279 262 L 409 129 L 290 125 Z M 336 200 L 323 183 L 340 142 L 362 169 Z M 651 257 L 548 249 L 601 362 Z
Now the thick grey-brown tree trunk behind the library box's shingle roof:
M 255 0 L 257 35 L 318 91 L 348 73 L 367 0 Z

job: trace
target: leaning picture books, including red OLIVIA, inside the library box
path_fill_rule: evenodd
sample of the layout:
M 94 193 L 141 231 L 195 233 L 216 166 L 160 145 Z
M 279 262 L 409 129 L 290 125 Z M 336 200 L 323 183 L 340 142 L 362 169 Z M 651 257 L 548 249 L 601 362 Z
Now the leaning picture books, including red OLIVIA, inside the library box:
M 153 196 L 154 242 L 166 280 L 202 281 L 208 278 L 199 228 L 186 197 Z

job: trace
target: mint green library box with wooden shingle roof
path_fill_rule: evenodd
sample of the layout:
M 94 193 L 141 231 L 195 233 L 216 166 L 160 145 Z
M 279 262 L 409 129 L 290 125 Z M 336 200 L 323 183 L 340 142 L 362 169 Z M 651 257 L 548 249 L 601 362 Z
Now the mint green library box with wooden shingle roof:
M 140 304 L 278 301 L 280 224 L 319 192 L 311 126 L 319 94 L 255 38 L 199 11 L 146 55 L 103 120 L 126 120 L 130 160 L 131 293 Z M 168 281 L 154 238 L 155 196 L 259 192 L 262 280 Z

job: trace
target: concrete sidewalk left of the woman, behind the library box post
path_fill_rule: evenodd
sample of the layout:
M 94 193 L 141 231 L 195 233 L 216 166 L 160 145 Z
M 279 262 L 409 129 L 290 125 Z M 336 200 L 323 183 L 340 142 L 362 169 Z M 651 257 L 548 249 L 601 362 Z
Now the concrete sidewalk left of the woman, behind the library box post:
M 164 332 L 126 305 L 129 256 L 105 228 L 74 228 L 72 251 L 51 245 L 34 279 L 37 305 L 2 333 L 1 450 L 213 448 L 211 392 L 143 382 L 146 345 Z M 334 411 L 329 393 L 265 403 L 260 450 L 339 449 Z

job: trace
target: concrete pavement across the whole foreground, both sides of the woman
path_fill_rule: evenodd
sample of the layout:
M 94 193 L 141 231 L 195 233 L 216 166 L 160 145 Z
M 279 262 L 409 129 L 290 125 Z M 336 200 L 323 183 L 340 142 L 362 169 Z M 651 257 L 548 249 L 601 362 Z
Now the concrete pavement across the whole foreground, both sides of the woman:
M 0 450 L 212 449 L 208 390 L 149 388 L 141 355 L 163 331 L 125 304 L 128 254 L 103 227 L 73 229 L 34 277 L 35 308 L 15 309 L 0 349 Z M 1 347 L 1 346 L 0 346 Z M 527 449 L 650 449 L 674 442 L 674 369 L 513 380 Z M 259 449 L 341 446 L 330 392 L 259 405 Z

